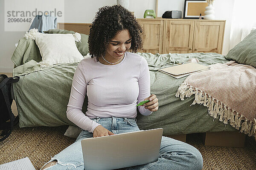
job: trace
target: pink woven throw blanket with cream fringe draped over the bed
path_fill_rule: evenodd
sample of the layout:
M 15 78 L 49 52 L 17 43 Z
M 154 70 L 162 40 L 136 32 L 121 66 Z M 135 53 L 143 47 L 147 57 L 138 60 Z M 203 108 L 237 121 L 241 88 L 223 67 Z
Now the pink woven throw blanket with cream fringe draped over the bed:
M 192 104 L 208 107 L 209 115 L 229 123 L 249 136 L 256 136 L 256 69 L 229 61 L 211 65 L 211 69 L 189 75 L 176 97 L 195 94 Z M 191 104 L 191 105 L 192 105 Z

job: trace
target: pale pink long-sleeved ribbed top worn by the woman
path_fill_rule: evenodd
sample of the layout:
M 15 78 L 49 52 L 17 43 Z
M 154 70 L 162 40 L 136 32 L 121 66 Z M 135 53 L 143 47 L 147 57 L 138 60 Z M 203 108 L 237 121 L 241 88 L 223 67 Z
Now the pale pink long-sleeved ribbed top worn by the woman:
M 87 112 L 82 112 L 84 98 L 88 97 Z M 150 96 L 148 63 L 140 55 L 126 52 L 116 65 L 83 59 L 73 77 L 67 118 L 78 127 L 93 132 L 100 124 L 90 118 L 111 116 L 135 118 L 136 105 Z M 138 107 L 142 115 L 152 112 Z

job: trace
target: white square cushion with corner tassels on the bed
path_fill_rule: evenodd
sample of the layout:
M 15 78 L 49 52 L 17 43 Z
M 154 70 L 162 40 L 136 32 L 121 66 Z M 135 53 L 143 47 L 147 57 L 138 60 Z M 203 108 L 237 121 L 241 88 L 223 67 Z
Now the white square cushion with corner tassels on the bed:
M 38 33 L 35 37 L 35 43 L 44 63 L 74 63 L 83 59 L 72 34 Z

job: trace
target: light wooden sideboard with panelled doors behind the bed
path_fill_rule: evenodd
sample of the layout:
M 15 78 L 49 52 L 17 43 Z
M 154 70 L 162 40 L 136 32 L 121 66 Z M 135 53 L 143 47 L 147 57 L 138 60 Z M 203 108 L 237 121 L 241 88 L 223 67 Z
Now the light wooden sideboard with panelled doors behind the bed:
M 225 20 L 137 20 L 143 27 L 143 52 L 222 52 Z

